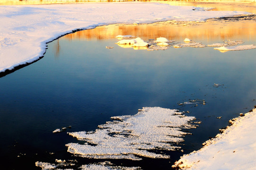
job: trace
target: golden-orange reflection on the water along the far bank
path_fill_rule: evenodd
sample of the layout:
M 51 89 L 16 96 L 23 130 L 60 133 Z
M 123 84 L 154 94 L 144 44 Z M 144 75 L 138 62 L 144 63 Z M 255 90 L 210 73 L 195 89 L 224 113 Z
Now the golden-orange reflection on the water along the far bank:
M 117 35 L 134 35 L 144 40 L 165 37 L 168 40 L 183 41 L 189 38 L 193 41 L 216 43 L 223 40 L 256 40 L 255 21 L 214 21 L 207 22 L 174 22 L 166 21 L 148 25 L 109 25 L 95 29 L 79 31 L 65 35 L 69 40 L 104 40 L 113 39 Z M 118 41 L 118 39 L 117 39 Z

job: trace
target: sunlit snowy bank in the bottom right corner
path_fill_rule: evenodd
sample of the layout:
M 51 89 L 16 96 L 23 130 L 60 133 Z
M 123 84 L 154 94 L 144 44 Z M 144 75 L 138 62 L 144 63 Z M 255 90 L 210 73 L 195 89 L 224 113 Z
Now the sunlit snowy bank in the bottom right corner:
M 233 125 L 205 142 L 199 151 L 184 155 L 175 166 L 190 170 L 255 170 L 256 109 L 229 122 Z

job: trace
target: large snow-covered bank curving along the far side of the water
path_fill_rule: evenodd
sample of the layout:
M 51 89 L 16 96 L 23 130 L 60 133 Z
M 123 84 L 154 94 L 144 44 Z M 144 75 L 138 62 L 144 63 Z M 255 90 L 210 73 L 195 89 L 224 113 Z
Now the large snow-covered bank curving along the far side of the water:
M 204 21 L 247 14 L 140 2 L 0 6 L 0 23 L 4 23 L 0 26 L 0 72 L 39 59 L 47 42 L 77 29 L 113 23 Z

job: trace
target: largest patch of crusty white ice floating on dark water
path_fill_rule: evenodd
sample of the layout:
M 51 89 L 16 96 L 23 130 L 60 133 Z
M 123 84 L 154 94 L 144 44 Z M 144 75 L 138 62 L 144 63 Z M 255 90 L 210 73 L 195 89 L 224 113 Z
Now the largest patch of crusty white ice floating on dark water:
M 175 150 L 172 143 L 183 142 L 183 128 L 194 128 L 194 117 L 184 116 L 178 110 L 145 107 L 134 116 L 115 116 L 113 121 L 100 125 L 95 131 L 68 133 L 85 144 L 66 144 L 68 152 L 94 159 L 141 160 L 169 158 L 168 155 L 149 150 Z

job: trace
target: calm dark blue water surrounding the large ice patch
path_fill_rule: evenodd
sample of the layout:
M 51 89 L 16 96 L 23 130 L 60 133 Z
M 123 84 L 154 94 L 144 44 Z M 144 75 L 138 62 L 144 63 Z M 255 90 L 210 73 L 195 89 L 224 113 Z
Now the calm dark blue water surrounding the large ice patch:
M 56 128 L 95 130 L 111 116 L 133 115 L 147 106 L 188 110 L 187 115 L 202 122 L 185 137 L 182 147 L 189 153 L 219 133 L 229 119 L 256 105 L 256 50 L 136 51 L 115 42 L 61 38 L 48 44 L 43 59 L 0 78 L 0 160 L 5 169 L 36 169 L 35 161 L 70 158 L 65 144 L 77 141 L 66 133 L 53 134 Z M 222 86 L 213 87 L 214 83 Z M 193 99 L 205 100 L 206 105 L 177 104 Z M 166 153 L 170 160 L 114 162 L 170 169 L 183 154 Z

